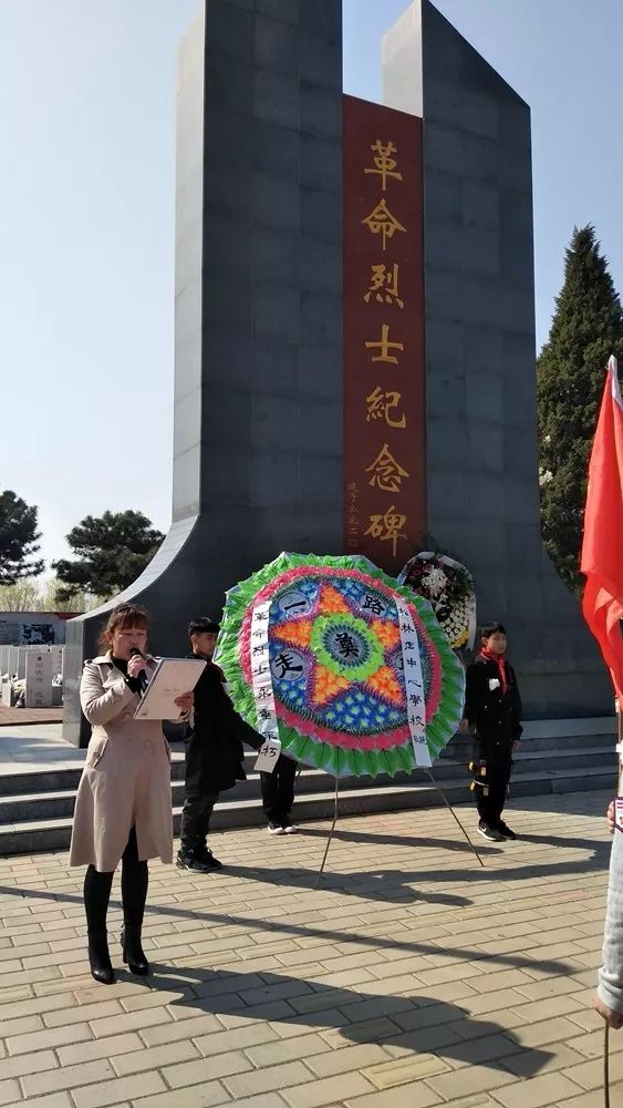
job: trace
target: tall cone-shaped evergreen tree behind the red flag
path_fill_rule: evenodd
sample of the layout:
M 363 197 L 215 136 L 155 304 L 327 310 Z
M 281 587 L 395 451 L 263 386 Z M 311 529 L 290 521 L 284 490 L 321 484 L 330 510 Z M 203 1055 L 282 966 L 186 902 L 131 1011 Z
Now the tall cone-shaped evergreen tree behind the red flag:
M 575 227 L 550 336 L 537 361 L 537 394 L 543 541 L 578 594 L 589 456 L 612 353 L 623 355 L 621 300 L 594 228 Z

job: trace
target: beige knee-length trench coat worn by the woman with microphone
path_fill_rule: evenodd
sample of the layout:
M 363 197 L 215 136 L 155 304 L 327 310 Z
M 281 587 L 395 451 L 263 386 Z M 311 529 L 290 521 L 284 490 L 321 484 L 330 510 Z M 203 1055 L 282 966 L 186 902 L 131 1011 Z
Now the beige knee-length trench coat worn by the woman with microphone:
M 162 722 L 133 719 L 139 696 L 110 653 L 85 663 L 80 701 L 93 730 L 77 788 L 70 865 L 115 870 L 133 825 L 141 861 L 173 861 L 170 748 Z

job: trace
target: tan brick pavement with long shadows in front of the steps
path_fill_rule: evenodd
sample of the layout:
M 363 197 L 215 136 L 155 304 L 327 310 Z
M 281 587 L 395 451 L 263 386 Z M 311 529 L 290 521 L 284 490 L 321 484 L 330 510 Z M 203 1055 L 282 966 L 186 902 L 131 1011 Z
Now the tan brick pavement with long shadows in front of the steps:
M 113 947 L 108 988 L 82 871 L 0 861 L 0 1106 L 598 1108 L 605 800 L 517 801 L 525 838 L 478 840 L 484 870 L 445 811 L 344 820 L 318 891 L 324 824 L 215 837 L 221 873 L 153 864 L 155 973 Z

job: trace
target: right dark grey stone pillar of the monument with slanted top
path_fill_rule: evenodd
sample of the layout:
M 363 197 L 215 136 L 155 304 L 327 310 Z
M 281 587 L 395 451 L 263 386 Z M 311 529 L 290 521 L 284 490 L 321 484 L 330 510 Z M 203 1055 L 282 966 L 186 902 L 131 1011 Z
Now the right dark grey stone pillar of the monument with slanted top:
M 508 623 L 527 712 L 610 712 L 540 541 L 529 107 L 428 0 L 384 59 L 385 102 L 424 116 L 428 531 Z

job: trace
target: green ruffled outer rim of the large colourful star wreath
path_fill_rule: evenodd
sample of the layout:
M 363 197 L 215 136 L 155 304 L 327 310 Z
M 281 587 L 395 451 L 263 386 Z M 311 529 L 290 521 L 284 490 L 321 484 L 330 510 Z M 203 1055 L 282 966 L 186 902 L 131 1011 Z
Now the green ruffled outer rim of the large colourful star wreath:
M 450 649 L 446 635 L 428 601 L 418 596 L 407 586 L 398 585 L 393 577 L 390 577 L 366 557 L 350 555 L 319 557 L 315 554 L 282 553 L 273 562 L 268 563 L 246 581 L 228 591 L 215 660 L 225 673 L 229 684 L 229 695 L 236 710 L 251 727 L 257 727 L 253 690 L 247 684 L 238 652 L 239 637 L 248 608 L 252 606 L 260 592 L 289 570 L 305 568 L 313 573 L 316 567 L 360 571 L 388 587 L 395 596 L 402 597 L 417 609 L 442 664 L 439 704 L 435 715 L 426 724 L 426 742 L 430 757 L 438 758 L 458 730 L 463 717 L 464 668 Z M 401 746 L 385 750 L 353 750 L 302 735 L 279 718 L 279 715 L 278 728 L 284 753 L 305 766 L 324 770 L 335 777 L 370 776 L 374 778 L 383 774 L 394 777 L 399 772 L 411 773 L 416 768 L 413 745 L 408 740 Z

